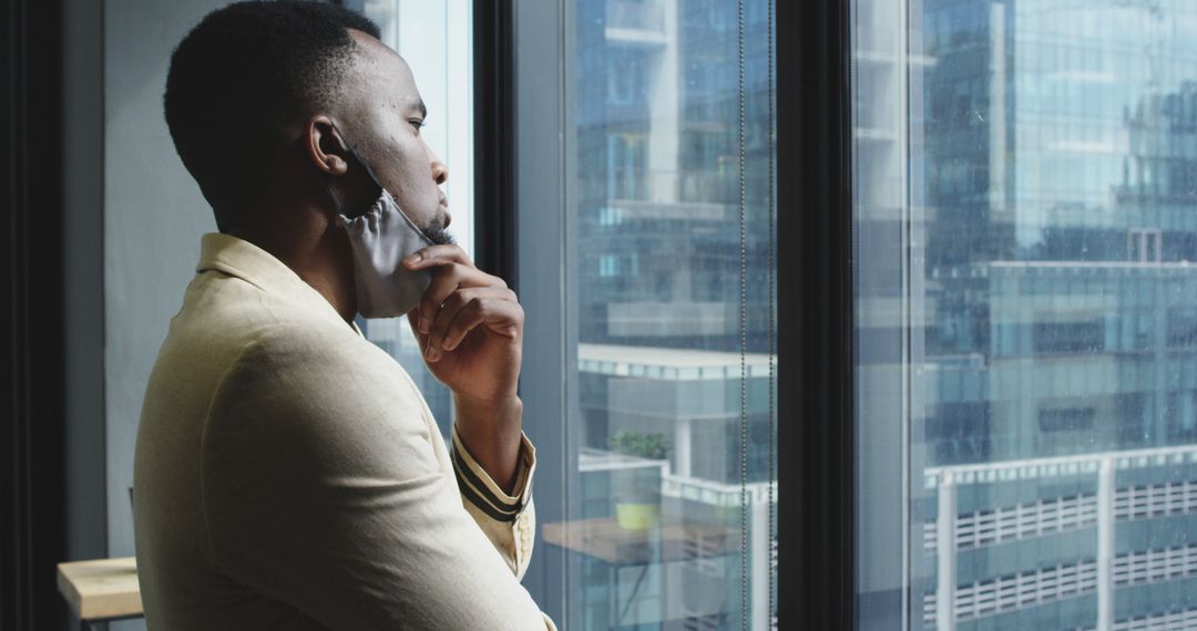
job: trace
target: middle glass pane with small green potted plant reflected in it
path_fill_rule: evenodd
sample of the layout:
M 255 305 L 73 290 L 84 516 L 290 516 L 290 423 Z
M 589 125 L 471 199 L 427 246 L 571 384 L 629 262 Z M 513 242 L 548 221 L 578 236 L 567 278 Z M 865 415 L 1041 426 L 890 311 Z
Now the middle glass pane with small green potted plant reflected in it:
M 770 7 L 742 8 L 571 5 L 567 629 L 772 618 Z

